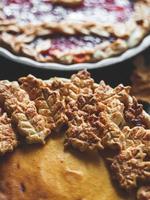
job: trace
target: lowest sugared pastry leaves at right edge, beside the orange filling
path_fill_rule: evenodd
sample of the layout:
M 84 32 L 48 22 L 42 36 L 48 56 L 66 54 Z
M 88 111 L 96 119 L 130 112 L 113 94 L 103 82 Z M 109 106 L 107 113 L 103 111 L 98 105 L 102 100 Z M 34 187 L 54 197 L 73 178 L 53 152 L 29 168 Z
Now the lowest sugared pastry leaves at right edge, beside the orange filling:
M 126 127 L 123 132 L 125 145 L 113 158 L 111 169 L 121 187 L 132 189 L 137 187 L 138 181 L 150 180 L 150 130 Z

